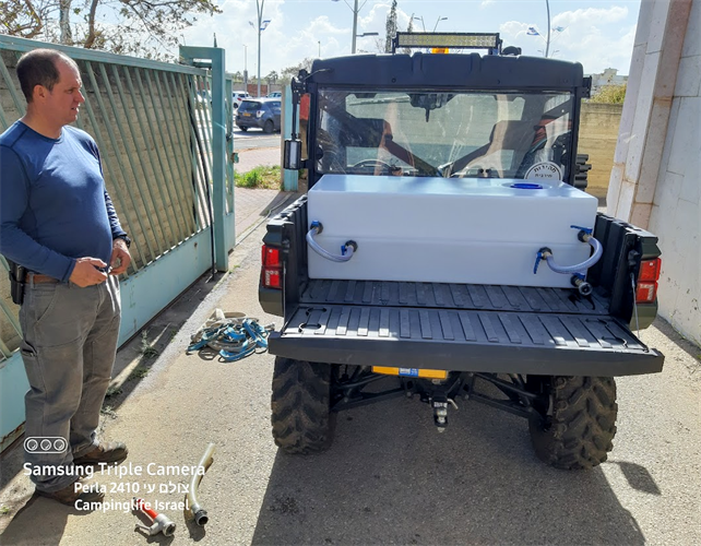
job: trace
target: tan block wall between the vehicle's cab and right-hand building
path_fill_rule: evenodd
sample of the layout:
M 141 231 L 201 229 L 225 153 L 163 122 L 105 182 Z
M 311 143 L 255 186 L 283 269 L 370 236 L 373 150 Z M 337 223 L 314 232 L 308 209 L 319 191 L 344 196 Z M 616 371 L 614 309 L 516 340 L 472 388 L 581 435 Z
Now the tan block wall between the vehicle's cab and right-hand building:
M 620 104 L 582 104 L 577 151 L 589 154 L 592 170 L 589 171 L 586 192 L 597 198 L 605 198 L 608 191 L 622 109 Z

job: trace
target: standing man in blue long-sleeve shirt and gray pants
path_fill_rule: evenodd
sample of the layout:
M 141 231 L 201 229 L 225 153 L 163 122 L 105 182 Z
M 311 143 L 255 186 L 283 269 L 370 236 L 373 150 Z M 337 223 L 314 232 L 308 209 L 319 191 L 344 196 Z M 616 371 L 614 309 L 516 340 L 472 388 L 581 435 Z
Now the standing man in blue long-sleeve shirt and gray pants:
M 38 441 L 26 442 L 26 461 L 37 494 L 67 505 L 100 501 L 99 487 L 82 483 L 80 471 L 128 454 L 123 443 L 100 443 L 96 428 L 117 349 L 117 275 L 129 266 L 131 241 L 95 142 L 69 126 L 85 102 L 75 62 L 36 49 L 16 71 L 27 110 L 0 135 L 0 253 L 27 270 L 20 310 L 31 387 L 25 435 Z M 41 453 L 41 438 L 54 447 L 62 438 L 66 449 Z

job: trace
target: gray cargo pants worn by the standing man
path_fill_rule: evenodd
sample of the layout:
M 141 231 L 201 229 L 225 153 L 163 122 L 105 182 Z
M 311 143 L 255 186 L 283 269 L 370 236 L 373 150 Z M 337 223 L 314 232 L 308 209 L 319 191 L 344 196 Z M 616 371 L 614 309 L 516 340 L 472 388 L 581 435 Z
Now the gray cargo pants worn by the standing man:
M 20 309 L 22 359 L 29 380 L 25 461 L 37 489 L 51 492 L 72 484 L 73 458 L 98 444 L 96 428 L 115 364 L 119 318 L 116 276 L 86 288 L 31 281 L 25 285 Z M 29 444 L 29 438 L 37 442 Z M 66 449 L 47 453 L 56 449 L 44 449 L 43 438 Z

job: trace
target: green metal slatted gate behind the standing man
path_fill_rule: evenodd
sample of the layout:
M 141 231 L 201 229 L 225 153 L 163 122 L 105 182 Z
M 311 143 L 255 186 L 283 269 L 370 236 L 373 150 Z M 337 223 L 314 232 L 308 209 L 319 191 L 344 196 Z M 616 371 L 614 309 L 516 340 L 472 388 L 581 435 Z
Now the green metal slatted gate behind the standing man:
M 0 36 L 0 131 L 24 115 L 14 68 L 38 47 L 79 64 L 85 104 L 76 126 L 97 142 L 107 190 L 133 240 L 121 280 L 121 344 L 210 266 L 226 270 L 235 233 L 224 50 L 183 48 L 215 59 L 205 69 Z M 0 257 L 0 451 L 22 432 L 28 388 L 7 269 Z

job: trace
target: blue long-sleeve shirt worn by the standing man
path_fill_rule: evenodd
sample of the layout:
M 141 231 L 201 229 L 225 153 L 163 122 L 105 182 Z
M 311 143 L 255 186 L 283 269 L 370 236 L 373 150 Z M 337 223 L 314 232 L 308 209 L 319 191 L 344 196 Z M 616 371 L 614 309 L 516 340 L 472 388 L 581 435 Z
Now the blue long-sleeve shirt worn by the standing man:
M 0 135 L 0 254 L 68 281 L 78 258 L 109 263 L 119 235 L 87 133 L 67 126 L 49 139 L 16 121 Z

